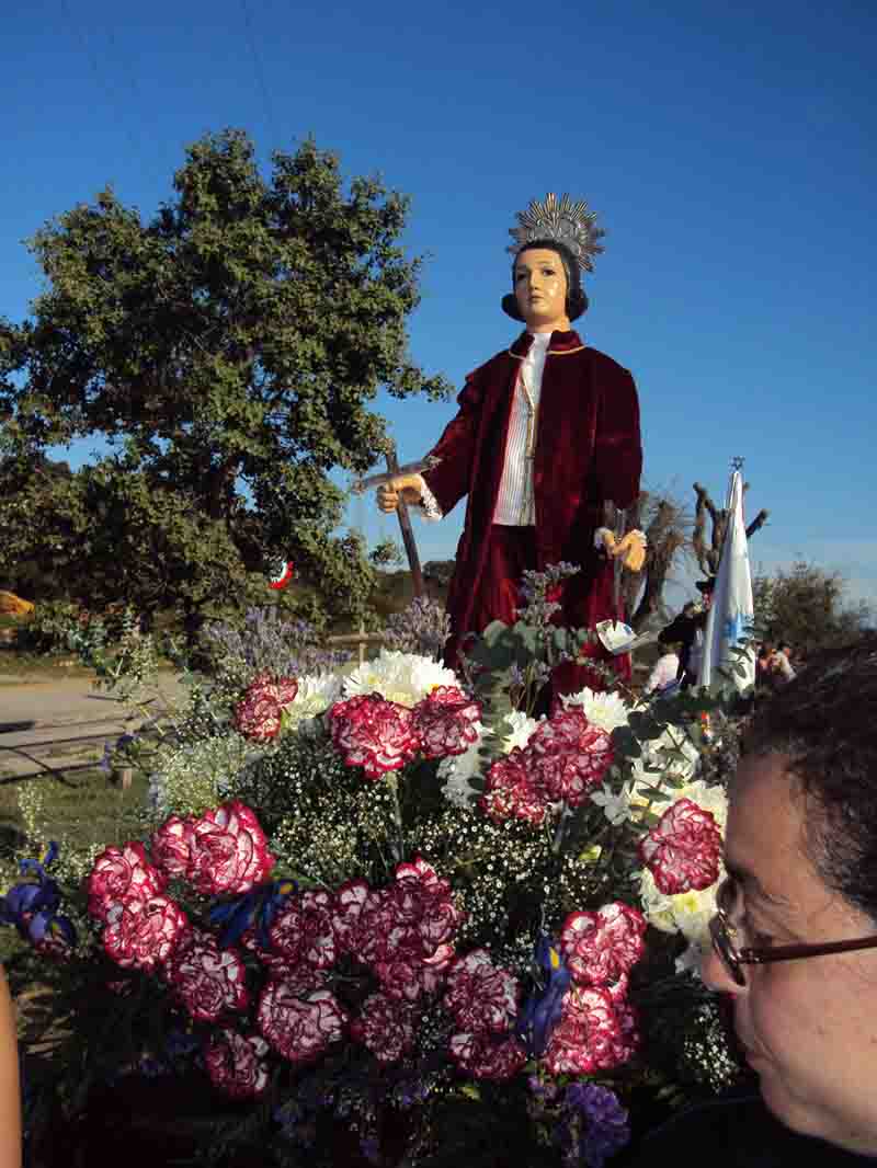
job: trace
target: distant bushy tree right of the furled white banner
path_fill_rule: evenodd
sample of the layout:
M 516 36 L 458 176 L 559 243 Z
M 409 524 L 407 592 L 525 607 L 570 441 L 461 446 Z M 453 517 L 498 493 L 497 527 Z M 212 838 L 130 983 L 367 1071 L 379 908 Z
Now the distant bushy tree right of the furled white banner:
M 755 624 L 767 640 L 788 641 L 795 655 L 855 640 L 873 614 L 865 602 L 851 602 L 841 572 L 799 559 L 752 584 Z

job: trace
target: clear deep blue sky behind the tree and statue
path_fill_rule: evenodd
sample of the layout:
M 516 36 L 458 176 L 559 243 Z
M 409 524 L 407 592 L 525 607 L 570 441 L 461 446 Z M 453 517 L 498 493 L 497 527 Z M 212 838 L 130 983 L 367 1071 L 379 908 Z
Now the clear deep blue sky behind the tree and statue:
M 636 377 L 645 485 L 718 498 L 744 457 L 772 513 L 753 563 L 803 556 L 877 603 L 876 56 L 869 0 L 32 0 L 2 25 L 0 315 L 40 290 L 22 241 L 104 185 L 149 216 L 207 131 L 246 130 L 265 162 L 313 134 L 412 195 L 412 355 L 460 384 L 515 334 L 515 213 L 568 190 L 607 230 L 579 329 Z M 377 408 L 402 460 L 454 413 Z M 371 501 L 350 515 L 395 534 Z M 422 558 L 461 524 L 417 523 Z

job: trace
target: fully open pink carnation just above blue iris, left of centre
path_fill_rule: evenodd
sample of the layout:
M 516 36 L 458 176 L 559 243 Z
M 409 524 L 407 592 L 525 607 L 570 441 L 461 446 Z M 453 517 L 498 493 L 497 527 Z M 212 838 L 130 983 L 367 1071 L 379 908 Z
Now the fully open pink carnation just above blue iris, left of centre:
M 244 804 L 223 804 L 192 821 L 187 875 L 205 896 L 248 892 L 268 880 L 274 864 L 264 832 Z

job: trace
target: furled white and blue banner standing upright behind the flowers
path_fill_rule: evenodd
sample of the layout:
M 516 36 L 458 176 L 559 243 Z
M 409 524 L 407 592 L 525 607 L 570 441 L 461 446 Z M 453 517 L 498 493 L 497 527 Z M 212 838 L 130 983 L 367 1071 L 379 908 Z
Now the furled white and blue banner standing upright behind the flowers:
M 739 471 L 731 475 L 727 509 L 727 529 L 712 593 L 712 607 L 706 618 L 698 686 L 717 691 L 733 684 L 738 691 L 744 693 L 755 683 L 755 654 L 752 648 L 745 653 L 733 652 L 734 646 L 751 637 L 748 628 L 754 620 L 748 541 L 743 519 L 743 478 Z

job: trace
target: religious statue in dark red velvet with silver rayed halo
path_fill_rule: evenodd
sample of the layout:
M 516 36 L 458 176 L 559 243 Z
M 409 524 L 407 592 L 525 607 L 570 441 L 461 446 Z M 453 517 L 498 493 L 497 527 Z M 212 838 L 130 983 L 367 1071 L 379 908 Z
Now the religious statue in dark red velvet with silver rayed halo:
M 451 635 L 446 662 L 457 665 L 470 633 L 492 620 L 511 624 L 525 569 L 565 561 L 558 621 L 595 627 L 622 617 L 613 595 L 613 557 L 641 566 L 641 533 L 623 542 L 602 527 L 605 505 L 626 508 L 640 493 L 640 408 L 627 369 L 585 345 L 571 321 L 588 306 L 581 272 L 603 249 L 603 231 L 583 202 L 567 195 L 533 201 L 517 216 L 512 292 L 503 310 L 526 328 L 511 348 L 479 366 L 457 398 L 460 411 L 428 456 L 422 474 L 381 486 L 378 506 L 403 499 L 441 519 L 467 496 L 465 523 L 447 607 Z M 599 642 L 585 654 L 610 654 Z M 629 659 L 615 659 L 629 675 Z M 594 672 L 559 667 L 554 689 L 593 684 Z

